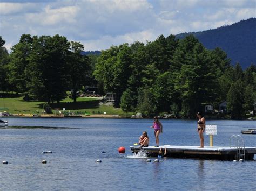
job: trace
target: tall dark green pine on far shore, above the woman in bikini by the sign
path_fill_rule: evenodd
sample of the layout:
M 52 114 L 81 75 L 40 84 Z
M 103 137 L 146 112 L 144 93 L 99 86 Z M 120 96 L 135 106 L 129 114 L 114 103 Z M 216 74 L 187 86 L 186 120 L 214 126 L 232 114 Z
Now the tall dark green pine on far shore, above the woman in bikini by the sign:
M 202 110 L 204 104 L 213 104 L 216 100 L 218 68 L 212 53 L 193 36 L 180 41 L 173 57 L 173 63 L 180 67 L 175 89 L 183 102 L 184 114 L 192 116 Z

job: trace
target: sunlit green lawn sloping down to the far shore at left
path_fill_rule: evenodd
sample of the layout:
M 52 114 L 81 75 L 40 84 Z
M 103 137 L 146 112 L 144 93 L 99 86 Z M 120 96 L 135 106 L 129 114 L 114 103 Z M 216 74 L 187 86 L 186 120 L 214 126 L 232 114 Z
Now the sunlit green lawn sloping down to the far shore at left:
M 79 97 L 77 98 L 77 103 L 73 103 L 73 100 L 66 98 L 59 104 L 51 104 L 52 112 L 55 109 L 81 111 L 82 113 L 90 112 L 91 114 L 103 113 L 110 115 L 120 115 L 125 116 L 124 112 L 120 108 L 114 108 L 113 106 L 107 106 L 100 104 L 102 100 L 90 97 Z M 14 98 L 0 98 L 0 112 L 7 111 L 11 114 L 36 114 L 37 110 L 39 114 L 43 111 L 44 102 L 39 101 L 24 101 L 23 97 Z

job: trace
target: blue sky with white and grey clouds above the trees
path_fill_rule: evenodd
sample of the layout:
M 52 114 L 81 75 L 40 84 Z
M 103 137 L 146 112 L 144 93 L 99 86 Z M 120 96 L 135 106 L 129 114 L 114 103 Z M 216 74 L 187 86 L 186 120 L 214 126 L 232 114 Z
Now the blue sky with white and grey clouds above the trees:
M 215 29 L 256 17 L 256 0 L 0 0 L 0 36 L 60 34 L 85 51 Z

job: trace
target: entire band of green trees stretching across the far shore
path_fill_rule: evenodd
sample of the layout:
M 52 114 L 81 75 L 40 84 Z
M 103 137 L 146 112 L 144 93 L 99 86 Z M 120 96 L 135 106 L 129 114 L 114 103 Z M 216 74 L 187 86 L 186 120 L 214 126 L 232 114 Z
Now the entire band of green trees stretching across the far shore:
M 1 38 L 2 91 L 28 100 L 59 102 L 70 91 L 97 84 L 100 94 L 120 95 L 125 112 L 171 112 L 185 117 L 227 101 L 232 118 L 253 110 L 256 68 L 234 67 L 220 48 L 206 49 L 194 36 L 111 46 L 100 55 L 82 55 L 83 45 L 63 36 L 24 34 L 8 54 Z

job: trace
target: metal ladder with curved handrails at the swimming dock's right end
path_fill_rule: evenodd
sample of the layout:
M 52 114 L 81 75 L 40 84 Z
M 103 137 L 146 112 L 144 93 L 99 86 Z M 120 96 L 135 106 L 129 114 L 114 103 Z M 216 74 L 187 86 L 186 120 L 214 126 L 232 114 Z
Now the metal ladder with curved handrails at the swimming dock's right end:
M 230 137 L 230 147 L 232 139 L 234 140 L 234 147 L 237 147 L 237 160 L 245 160 L 245 142 L 240 135 L 232 135 Z

